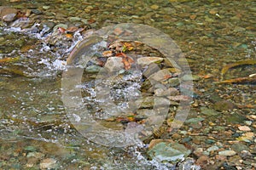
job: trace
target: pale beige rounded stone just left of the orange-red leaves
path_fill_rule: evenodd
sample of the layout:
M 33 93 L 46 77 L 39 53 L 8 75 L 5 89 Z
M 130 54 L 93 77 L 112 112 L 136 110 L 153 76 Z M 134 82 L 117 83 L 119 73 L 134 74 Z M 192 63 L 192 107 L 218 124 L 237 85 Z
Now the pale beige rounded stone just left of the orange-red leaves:
M 121 69 L 124 69 L 125 66 L 122 62 L 122 58 L 120 57 L 109 57 L 106 64 L 104 65 L 104 68 L 106 68 L 108 71 L 119 71 Z

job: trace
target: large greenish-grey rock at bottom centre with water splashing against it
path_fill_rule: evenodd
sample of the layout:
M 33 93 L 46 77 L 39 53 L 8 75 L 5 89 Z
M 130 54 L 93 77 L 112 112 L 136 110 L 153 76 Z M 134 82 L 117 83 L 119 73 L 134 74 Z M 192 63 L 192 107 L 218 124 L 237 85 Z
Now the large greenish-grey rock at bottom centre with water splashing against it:
M 152 159 L 172 163 L 183 160 L 191 152 L 183 144 L 178 144 L 172 140 L 152 140 L 148 147 L 148 156 Z

